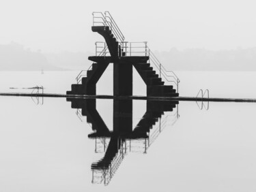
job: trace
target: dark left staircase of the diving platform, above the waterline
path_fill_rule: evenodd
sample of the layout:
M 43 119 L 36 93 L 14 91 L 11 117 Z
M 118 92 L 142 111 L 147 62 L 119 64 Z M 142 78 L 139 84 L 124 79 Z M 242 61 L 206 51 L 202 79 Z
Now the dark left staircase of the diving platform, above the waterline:
M 82 84 L 72 84 L 71 91 L 67 95 L 96 95 L 96 83 L 104 73 L 109 63 L 93 63 L 91 69 L 87 71 L 87 76 L 83 77 Z

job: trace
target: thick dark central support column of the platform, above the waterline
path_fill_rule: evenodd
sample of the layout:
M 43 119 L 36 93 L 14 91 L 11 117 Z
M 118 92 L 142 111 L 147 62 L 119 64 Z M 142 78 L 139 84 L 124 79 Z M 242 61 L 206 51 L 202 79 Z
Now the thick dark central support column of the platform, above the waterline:
M 115 96 L 132 95 L 132 64 L 113 63 L 113 85 Z

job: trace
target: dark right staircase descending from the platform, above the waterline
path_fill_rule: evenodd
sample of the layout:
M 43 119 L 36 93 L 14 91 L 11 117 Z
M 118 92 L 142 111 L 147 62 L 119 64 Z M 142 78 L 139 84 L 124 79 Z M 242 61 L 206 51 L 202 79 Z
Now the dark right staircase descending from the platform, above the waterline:
M 150 63 L 134 63 L 133 66 L 137 69 L 141 78 L 147 85 L 147 96 L 161 96 L 161 97 L 178 97 L 179 93 L 175 93 L 171 85 L 164 85 L 165 82 L 159 78 Z

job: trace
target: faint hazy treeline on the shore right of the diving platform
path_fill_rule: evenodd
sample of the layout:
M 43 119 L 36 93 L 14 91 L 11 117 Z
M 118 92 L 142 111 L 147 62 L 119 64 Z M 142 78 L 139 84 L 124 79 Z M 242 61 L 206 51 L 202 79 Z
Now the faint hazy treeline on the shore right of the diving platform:
M 158 59 L 171 70 L 197 71 L 255 71 L 256 48 L 236 50 L 206 50 L 190 48 L 155 52 Z

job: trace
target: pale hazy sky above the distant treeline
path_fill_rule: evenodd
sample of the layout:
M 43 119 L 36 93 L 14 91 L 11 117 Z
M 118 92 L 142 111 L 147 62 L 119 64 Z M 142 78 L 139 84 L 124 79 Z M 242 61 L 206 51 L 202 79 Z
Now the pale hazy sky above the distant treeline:
M 0 44 L 43 52 L 94 51 L 91 12 L 109 10 L 127 41 L 153 50 L 256 46 L 256 1 L 0 0 Z

